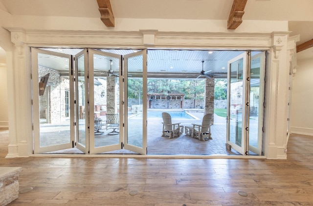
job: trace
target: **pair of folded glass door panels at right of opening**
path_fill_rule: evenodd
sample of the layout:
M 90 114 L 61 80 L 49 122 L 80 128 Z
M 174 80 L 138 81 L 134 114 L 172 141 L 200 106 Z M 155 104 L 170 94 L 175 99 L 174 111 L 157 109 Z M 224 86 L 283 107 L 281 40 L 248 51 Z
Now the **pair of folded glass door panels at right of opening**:
M 265 52 L 228 61 L 226 143 L 242 155 L 262 155 Z

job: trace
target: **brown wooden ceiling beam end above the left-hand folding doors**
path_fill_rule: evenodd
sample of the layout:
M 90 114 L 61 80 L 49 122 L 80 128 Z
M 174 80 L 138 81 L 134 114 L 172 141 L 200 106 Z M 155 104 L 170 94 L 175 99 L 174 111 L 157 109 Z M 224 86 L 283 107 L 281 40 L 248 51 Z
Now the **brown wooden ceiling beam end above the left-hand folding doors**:
M 114 15 L 111 7 L 110 0 L 97 0 L 98 6 L 99 6 L 99 12 L 101 14 L 101 21 L 107 26 L 107 27 L 114 27 L 115 26 L 115 20 Z

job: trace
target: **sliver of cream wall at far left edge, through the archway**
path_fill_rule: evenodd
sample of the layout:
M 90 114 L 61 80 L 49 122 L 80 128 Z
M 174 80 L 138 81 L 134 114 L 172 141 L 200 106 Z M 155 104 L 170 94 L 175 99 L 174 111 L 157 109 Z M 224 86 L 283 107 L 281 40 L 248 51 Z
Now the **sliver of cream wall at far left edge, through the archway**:
M 0 63 L 0 127 L 8 127 L 6 64 Z

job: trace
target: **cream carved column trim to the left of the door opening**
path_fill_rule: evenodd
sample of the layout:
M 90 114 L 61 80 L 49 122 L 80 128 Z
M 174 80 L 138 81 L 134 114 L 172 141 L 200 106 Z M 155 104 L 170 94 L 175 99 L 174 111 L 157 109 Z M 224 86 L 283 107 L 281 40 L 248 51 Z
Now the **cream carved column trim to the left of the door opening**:
M 22 29 L 12 29 L 12 65 L 8 66 L 9 146 L 7 158 L 32 154 L 30 49 Z M 11 117 L 11 118 L 10 118 Z

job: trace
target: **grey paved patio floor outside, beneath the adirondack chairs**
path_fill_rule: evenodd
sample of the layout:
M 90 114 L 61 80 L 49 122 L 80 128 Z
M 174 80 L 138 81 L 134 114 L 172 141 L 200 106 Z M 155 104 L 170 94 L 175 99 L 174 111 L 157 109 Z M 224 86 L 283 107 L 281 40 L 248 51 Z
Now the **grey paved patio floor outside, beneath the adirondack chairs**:
M 181 125 L 191 125 L 191 123 L 200 123 L 203 113 L 193 112 L 192 115 L 198 117 L 195 120 L 188 119 L 172 119 L 172 122 L 180 122 Z M 100 116 L 101 118 L 105 118 Z M 148 138 L 147 138 L 147 154 L 148 155 L 241 155 L 235 150 L 227 150 L 226 143 L 226 120 L 224 117 L 214 115 L 214 125 L 211 126 L 212 139 L 201 141 L 197 138 L 192 138 L 184 133 L 179 137 L 168 138 L 162 137 L 162 120 L 148 119 Z M 139 128 L 133 128 L 135 130 Z M 95 136 L 95 139 L 115 138 L 118 136 L 106 136 L 107 131 L 103 135 Z M 103 138 L 106 136 L 105 138 Z M 76 148 L 49 152 L 45 154 L 83 154 Z M 105 152 L 101 154 L 136 154 L 125 149 Z

